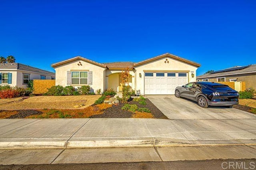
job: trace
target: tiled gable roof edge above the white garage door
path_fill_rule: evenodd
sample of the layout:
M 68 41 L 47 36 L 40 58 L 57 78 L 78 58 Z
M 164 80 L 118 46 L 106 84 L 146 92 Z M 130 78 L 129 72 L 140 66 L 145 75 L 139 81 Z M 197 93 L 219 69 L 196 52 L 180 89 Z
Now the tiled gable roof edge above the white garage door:
M 187 60 L 187 59 L 184 59 L 182 57 L 179 57 L 177 55 L 173 55 L 173 54 L 170 54 L 170 53 L 165 53 L 165 54 L 162 54 L 162 55 L 158 55 L 156 57 L 152 57 L 150 59 L 146 59 L 146 60 L 143 60 L 143 61 L 140 61 L 138 63 L 134 63 L 134 66 L 137 66 L 137 65 L 142 65 L 144 63 L 148 63 L 150 61 L 154 61 L 156 59 L 160 59 L 160 58 L 164 58 L 164 57 L 171 57 L 171 58 L 174 58 L 174 59 L 177 59 L 177 60 L 180 60 L 180 61 L 184 61 L 185 63 L 189 63 L 191 65 L 194 65 L 196 67 L 200 67 L 201 65 L 199 63 L 195 63 L 193 61 L 190 61 L 190 60 Z

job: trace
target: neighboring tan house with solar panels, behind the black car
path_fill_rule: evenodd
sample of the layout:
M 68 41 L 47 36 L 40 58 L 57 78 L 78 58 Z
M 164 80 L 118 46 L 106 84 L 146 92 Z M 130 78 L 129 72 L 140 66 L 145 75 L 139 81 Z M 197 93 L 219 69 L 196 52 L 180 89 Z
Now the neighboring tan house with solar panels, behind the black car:
M 206 73 L 196 77 L 197 81 L 244 81 L 246 89 L 256 89 L 256 64 L 247 66 L 236 66 L 228 69 Z

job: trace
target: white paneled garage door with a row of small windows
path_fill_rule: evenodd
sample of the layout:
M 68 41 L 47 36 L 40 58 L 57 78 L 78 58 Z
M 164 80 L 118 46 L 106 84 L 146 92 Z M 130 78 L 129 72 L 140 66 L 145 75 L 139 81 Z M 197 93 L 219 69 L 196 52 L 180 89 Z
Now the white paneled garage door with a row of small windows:
M 188 83 L 188 73 L 145 73 L 146 95 L 170 95 L 175 88 Z

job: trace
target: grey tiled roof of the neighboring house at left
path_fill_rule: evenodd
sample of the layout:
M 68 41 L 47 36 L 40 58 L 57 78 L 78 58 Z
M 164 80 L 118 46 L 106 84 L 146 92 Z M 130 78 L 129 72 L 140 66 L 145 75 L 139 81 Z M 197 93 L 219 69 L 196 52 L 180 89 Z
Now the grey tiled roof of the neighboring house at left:
M 21 63 L 4 63 L 4 64 L 1 63 L 0 69 L 18 69 L 18 70 L 31 71 L 31 72 L 41 73 L 41 74 L 55 75 L 55 73 L 53 72 L 38 69 L 36 67 L 31 67 L 29 65 L 24 65 Z

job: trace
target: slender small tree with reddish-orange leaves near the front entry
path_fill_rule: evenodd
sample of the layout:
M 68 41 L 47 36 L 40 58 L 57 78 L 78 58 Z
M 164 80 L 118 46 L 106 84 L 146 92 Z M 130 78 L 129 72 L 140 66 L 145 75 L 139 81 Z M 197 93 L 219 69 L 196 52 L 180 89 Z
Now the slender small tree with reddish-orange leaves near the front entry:
M 132 92 L 132 87 L 129 85 L 129 79 L 130 79 L 130 71 L 129 68 L 126 67 L 125 70 L 122 70 L 122 85 L 123 85 L 123 89 L 122 89 L 122 103 L 127 103 L 128 99 L 130 99 L 130 95 Z

